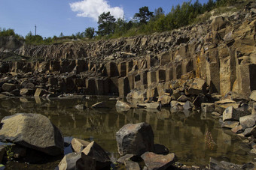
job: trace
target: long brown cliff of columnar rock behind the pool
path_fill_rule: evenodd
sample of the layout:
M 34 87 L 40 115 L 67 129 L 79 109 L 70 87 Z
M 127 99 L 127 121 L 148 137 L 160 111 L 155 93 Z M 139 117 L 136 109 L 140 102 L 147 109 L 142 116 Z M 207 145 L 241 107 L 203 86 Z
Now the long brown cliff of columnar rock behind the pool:
M 146 100 L 168 92 L 177 79 L 198 77 L 211 94 L 234 91 L 248 99 L 256 90 L 255 10 L 249 2 L 242 11 L 175 31 L 90 43 L 32 46 L 1 37 L 2 58 L 38 59 L 2 61 L 1 85 L 12 83 L 21 95 L 35 88 L 120 97 L 136 91 Z

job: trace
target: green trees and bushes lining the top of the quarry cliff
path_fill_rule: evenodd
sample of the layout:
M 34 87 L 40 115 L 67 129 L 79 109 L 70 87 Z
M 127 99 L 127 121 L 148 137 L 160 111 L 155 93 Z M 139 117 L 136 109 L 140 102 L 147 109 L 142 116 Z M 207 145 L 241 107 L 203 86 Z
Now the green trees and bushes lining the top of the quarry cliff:
M 41 37 L 41 35 L 32 35 L 30 31 L 26 37 L 15 34 L 14 30 L 1 29 L 0 36 L 13 35 L 31 44 L 50 44 L 61 43 L 70 39 L 101 39 L 101 38 L 116 38 L 129 37 L 136 34 L 151 34 L 153 32 L 170 31 L 175 28 L 180 28 L 185 25 L 190 25 L 195 22 L 202 22 L 198 19 L 201 14 L 209 12 L 216 7 L 224 7 L 231 4 L 236 4 L 239 0 L 208 0 L 207 3 L 201 4 L 199 0 L 191 3 L 185 1 L 175 7 L 172 6 L 169 13 L 165 13 L 162 7 L 158 7 L 154 12 L 150 11 L 147 6 L 139 8 L 139 12 L 135 13 L 133 19 L 126 20 L 124 18 L 115 19 L 110 12 L 104 12 L 98 17 L 98 29 L 89 27 L 83 32 L 65 36 L 59 34 L 59 37 Z M 208 18 L 206 18 L 208 19 Z

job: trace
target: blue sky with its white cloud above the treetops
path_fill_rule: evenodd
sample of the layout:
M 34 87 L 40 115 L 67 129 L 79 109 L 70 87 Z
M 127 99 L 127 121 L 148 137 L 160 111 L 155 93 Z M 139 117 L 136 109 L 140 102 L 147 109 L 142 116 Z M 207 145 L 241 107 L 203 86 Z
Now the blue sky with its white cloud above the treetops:
M 88 27 L 97 28 L 98 16 L 111 12 L 115 18 L 130 20 L 140 7 L 148 6 L 154 12 L 163 7 L 169 13 L 172 5 L 188 0 L 0 0 L 0 27 L 12 28 L 26 36 L 29 31 L 42 37 L 72 35 Z M 206 3 L 208 0 L 200 0 Z M 192 1 L 194 2 L 194 1 Z

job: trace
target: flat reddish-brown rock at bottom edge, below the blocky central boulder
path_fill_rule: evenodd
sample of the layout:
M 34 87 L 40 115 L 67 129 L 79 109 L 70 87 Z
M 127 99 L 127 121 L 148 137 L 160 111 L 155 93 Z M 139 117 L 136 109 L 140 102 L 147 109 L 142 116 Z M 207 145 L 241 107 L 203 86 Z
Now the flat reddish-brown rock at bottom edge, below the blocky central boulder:
M 175 154 L 159 155 L 153 152 L 146 152 L 142 154 L 142 159 L 148 167 L 148 170 L 167 169 L 174 163 Z

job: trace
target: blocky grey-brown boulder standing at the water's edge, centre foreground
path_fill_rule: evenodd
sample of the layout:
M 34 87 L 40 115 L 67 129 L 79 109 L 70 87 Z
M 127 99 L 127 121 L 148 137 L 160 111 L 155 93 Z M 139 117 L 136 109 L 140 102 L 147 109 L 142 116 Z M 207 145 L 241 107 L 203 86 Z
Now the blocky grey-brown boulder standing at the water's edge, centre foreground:
M 154 133 L 147 123 L 126 124 L 116 133 L 117 148 L 121 156 L 141 155 L 154 151 Z

